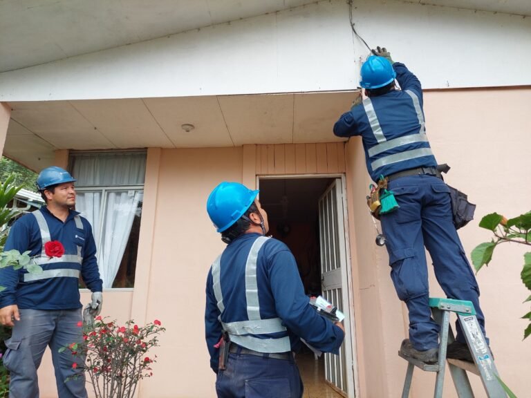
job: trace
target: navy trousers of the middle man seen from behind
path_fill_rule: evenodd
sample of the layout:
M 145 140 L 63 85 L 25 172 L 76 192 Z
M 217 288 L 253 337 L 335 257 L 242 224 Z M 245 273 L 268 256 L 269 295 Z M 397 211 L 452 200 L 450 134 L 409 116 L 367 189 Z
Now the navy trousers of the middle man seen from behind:
M 295 359 L 273 359 L 230 353 L 218 372 L 218 398 L 301 398 L 302 386 Z

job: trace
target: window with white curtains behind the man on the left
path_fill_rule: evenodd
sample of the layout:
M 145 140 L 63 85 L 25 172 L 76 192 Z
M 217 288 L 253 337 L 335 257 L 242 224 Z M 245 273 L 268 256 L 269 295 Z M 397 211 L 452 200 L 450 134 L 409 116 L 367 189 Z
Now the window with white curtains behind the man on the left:
M 76 210 L 92 225 L 103 287 L 133 287 L 146 153 L 72 153 Z

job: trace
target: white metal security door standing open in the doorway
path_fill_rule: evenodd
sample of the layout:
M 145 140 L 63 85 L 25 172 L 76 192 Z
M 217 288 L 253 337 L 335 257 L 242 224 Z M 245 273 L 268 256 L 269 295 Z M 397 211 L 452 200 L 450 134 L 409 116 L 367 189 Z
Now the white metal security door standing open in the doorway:
M 348 398 L 355 397 L 353 355 L 346 272 L 346 242 L 342 180 L 336 178 L 319 199 L 319 245 L 322 292 L 326 300 L 345 314 L 345 340 L 339 356 L 325 354 L 325 377 Z

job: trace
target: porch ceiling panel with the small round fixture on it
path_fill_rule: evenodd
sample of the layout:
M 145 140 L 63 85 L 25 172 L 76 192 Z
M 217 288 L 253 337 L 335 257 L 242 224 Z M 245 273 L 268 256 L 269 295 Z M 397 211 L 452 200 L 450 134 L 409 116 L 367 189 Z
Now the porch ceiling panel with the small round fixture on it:
M 234 146 L 217 97 L 145 98 L 144 103 L 176 148 Z M 185 131 L 183 124 L 193 124 Z

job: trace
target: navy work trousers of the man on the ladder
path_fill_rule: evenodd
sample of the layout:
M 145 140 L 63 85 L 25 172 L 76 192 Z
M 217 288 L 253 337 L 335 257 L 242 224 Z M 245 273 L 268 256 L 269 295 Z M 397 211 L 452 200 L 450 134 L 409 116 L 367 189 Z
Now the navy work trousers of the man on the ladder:
M 485 335 L 479 287 L 452 222 L 449 188 L 429 175 L 406 176 L 389 182 L 400 208 L 382 214 L 391 278 L 409 310 L 409 339 L 416 350 L 438 347 L 438 324 L 429 307 L 425 247 L 440 287 L 449 299 L 472 301 Z M 456 339 L 465 337 L 456 323 Z M 487 340 L 488 343 L 488 340 Z

